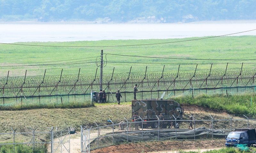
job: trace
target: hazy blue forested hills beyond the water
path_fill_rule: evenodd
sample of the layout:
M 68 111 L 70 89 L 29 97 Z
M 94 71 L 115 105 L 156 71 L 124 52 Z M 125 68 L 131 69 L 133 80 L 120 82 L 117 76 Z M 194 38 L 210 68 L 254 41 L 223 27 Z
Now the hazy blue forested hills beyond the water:
M 256 19 L 255 0 L 0 0 L 0 21 L 172 23 Z

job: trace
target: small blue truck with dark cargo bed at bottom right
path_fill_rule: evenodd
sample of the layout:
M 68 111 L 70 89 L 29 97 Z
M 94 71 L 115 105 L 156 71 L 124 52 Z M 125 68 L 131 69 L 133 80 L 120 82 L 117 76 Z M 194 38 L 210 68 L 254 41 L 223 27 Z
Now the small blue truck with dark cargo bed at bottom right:
M 226 137 L 225 146 L 232 147 L 237 144 L 256 145 L 256 133 L 254 128 L 238 128 L 230 132 Z

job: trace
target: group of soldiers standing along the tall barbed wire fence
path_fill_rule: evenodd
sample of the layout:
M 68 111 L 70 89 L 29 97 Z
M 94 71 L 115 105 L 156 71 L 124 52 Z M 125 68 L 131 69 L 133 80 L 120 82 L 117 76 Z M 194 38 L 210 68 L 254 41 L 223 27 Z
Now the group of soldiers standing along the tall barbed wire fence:
M 138 85 L 135 84 L 135 86 L 133 87 L 133 95 L 134 95 L 133 98 L 134 98 L 134 100 L 137 100 L 136 99 L 136 93 L 138 91 L 137 86 Z M 106 103 L 107 95 L 106 95 L 105 90 L 102 91 L 102 89 L 100 89 L 100 92 L 98 94 L 98 98 L 99 98 L 99 103 Z M 122 97 L 120 91 L 117 90 L 117 92 L 116 92 L 116 101 L 117 101 L 118 105 L 120 105 L 120 98 L 123 98 L 123 97 Z

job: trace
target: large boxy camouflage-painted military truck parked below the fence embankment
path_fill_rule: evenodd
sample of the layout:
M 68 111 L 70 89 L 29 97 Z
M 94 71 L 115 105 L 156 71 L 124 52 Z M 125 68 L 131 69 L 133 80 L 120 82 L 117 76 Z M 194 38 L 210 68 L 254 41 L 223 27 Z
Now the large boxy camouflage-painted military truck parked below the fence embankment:
M 167 128 L 167 126 L 174 126 L 174 128 L 179 128 L 183 116 L 183 108 L 180 104 L 174 100 L 163 100 L 162 98 L 149 98 L 145 100 L 132 100 L 132 115 L 137 113 L 138 116 L 144 121 L 143 128 L 151 127 L 158 128 L 158 116 L 160 113 L 164 116 L 161 121 L 160 128 Z M 176 125 L 175 120 L 176 118 Z M 153 122 L 155 120 L 155 122 Z M 169 121 L 168 121 L 169 120 Z M 142 124 L 141 124 L 142 125 Z M 140 126 L 141 126 L 140 125 Z

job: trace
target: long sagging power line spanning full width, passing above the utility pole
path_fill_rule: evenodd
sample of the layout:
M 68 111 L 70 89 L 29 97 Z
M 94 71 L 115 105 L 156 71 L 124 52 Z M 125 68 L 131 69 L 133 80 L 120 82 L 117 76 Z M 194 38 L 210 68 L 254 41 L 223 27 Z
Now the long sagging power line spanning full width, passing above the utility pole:
M 238 33 L 246 33 L 253 30 L 238 32 Z M 222 36 L 228 36 L 238 33 L 230 33 L 220 36 L 212 36 L 212 37 L 206 37 L 206 38 L 198 38 L 198 39 L 191 39 L 191 40 L 180 40 L 180 41 L 172 41 L 172 42 L 161 42 L 161 43 L 152 43 L 152 44 L 137 44 L 137 45 L 115 45 L 115 46 L 47 46 L 47 45 L 26 45 L 26 44 L 12 44 L 12 43 L 0 43 L 0 44 L 6 44 L 6 45 L 20 45 L 20 46 L 38 46 L 38 47 L 127 47 L 127 46 L 144 46 L 144 45 L 159 45 L 159 44 L 168 44 L 168 43 L 175 43 L 175 42 L 185 42 L 185 41 L 193 41 L 193 40 L 202 40 L 202 39 L 209 39 L 209 38 L 215 38 L 215 37 L 222 37 Z

